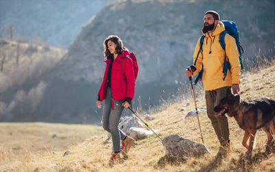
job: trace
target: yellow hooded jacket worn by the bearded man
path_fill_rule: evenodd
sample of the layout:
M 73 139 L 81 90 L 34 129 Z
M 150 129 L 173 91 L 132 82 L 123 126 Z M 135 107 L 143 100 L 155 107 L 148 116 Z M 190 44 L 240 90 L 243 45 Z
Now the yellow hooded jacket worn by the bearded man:
M 201 64 L 203 63 L 203 87 L 206 91 L 219 89 L 221 87 L 232 87 L 232 84 L 241 83 L 241 65 L 239 62 L 239 52 L 236 47 L 235 39 L 229 34 L 225 34 L 225 51 L 219 43 L 219 34 L 225 30 L 223 23 L 220 21 L 214 32 L 204 34 L 203 47 L 196 65 L 197 70 L 192 76 L 199 74 Z M 202 32 L 202 30 L 201 30 Z M 199 52 L 199 41 L 193 55 L 194 62 Z M 226 52 L 226 61 L 229 61 L 231 69 L 228 69 L 227 76 L 223 80 L 223 63 Z

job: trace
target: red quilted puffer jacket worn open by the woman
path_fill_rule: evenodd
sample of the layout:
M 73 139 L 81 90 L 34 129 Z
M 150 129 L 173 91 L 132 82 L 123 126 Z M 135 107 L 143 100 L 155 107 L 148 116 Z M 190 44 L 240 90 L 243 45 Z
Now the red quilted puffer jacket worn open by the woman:
M 133 96 L 135 94 L 135 76 L 133 72 L 133 61 L 129 57 L 126 58 L 126 56 L 130 53 L 125 47 L 123 47 L 123 49 L 124 51 L 120 55 L 118 55 L 113 61 L 111 69 L 111 92 L 113 94 L 113 100 L 125 100 L 126 97 L 133 99 Z M 104 62 L 106 62 L 107 65 L 104 72 L 103 81 L 98 92 L 98 96 L 100 96 L 101 101 L 104 100 L 106 96 L 107 74 L 111 60 L 107 59 Z M 122 68 L 126 79 L 122 72 Z

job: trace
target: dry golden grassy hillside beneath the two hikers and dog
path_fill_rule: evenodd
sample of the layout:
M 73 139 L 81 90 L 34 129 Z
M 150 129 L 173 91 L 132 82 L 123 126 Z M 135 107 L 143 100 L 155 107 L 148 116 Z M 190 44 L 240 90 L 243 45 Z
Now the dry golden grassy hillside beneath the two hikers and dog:
M 188 87 L 188 85 L 185 86 Z M 203 92 L 199 91 L 198 87 L 195 89 L 195 92 L 200 94 L 197 97 L 197 106 L 205 107 L 204 95 L 201 94 Z M 255 68 L 254 72 L 243 74 L 241 98 L 252 99 L 261 96 L 275 98 L 274 61 L 265 67 Z M 161 110 L 151 111 L 151 116 L 156 119 L 148 121 L 147 124 L 157 129 L 162 138 L 177 134 L 201 142 L 197 117 L 185 118 L 188 111 L 194 107 L 190 95 L 179 98 L 173 103 L 166 102 L 159 107 Z M 273 147 L 270 149 L 273 153 L 266 154 L 263 145 L 267 138 L 262 130 L 256 133 L 256 146 L 252 158 L 245 159 L 243 153 L 246 149 L 241 145 L 244 131 L 239 128 L 234 118 L 229 118 L 233 151 L 227 158 L 221 160 L 216 158 L 219 143 L 210 120 L 206 113 L 199 114 L 199 119 L 204 144 L 208 146 L 212 154 L 187 160 L 167 157 L 162 142 L 153 135 L 144 140 L 137 140 L 129 151 L 129 158 L 115 166 L 108 166 L 111 144 L 103 144 L 108 138 L 107 133 L 102 133 L 102 130 L 92 133 L 93 127 L 82 125 L 0 123 L 0 171 L 274 171 L 275 144 L 273 142 Z M 66 136 L 63 136 L 63 131 L 68 131 Z M 80 144 L 74 144 L 74 139 L 66 140 L 62 143 L 66 147 L 54 149 L 55 153 L 52 153 L 53 149 L 50 145 L 53 143 L 49 138 L 54 133 L 57 133 L 56 139 L 59 136 L 61 138 L 81 136 L 87 140 Z M 30 135 L 32 135 L 32 140 L 42 139 L 31 144 L 28 141 L 31 139 L 27 137 Z M 20 151 L 14 149 L 17 147 L 14 146 L 16 144 L 21 144 Z M 41 145 L 44 144 L 47 145 L 47 149 L 37 153 L 36 147 L 41 150 Z M 63 156 L 67 149 L 70 151 L 69 155 Z

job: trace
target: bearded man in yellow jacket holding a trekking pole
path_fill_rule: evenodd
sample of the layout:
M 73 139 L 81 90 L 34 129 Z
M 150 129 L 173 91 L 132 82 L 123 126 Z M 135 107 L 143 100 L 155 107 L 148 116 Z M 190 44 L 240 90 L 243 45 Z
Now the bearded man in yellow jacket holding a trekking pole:
M 199 52 L 200 43 L 194 53 L 194 65 L 186 69 L 186 76 L 195 76 L 201 71 L 203 65 L 203 87 L 206 90 L 206 109 L 208 118 L 211 120 L 212 127 L 221 143 L 218 154 L 226 154 L 231 150 L 230 133 L 228 127 L 228 118 L 226 116 L 214 117 L 217 113 L 213 108 L 219 104 L 225 97 L 226 90 L 231 89 L 234 94 L 239 92 L 241 83 L 241 65 L 239 63 L 239 52 L 236 47 L 236 41 L 229 34 L 225 34 L 225 51 L 219 43 L 219 34 L 225 30 L 219 14 L 215 11 L 208 11 L 204 16 L 204 24 L 201 32 L 206 36 L 203 40 L 201 52 Z M 226 61 L 230 63 L 231 69 L 228 69 L 224 78 L 223 63 L 226 54 Z M 224 80 L 223 80 L 224 78 Z

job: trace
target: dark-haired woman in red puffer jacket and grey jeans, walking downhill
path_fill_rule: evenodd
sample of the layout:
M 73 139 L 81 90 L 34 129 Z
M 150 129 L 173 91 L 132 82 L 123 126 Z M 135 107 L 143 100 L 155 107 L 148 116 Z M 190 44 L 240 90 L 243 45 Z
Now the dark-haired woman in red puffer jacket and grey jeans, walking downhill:
M 135 141 L 118 128 L 122 111 L 124 107 L 129 107 L 135 94 L 135 76 L 133 61 L 127 57 L 130 53 L 123 47 L 118 36 L 108 36 L 103 45 L 104 56 L 107 58 L 104 62 L 107 63 L 107 66 L 98 92 L 96 106 L 101 108 L 101 102 L 105 100 L 102 125 L 104 130 L 111 133 L 113 153 L 109 164 L 115 164 L 120 163 L 120 151 L 122 151 L 122 155 L 126 155 Z M 120 146 L 120 140 L 122 140 L 122 146 Z

